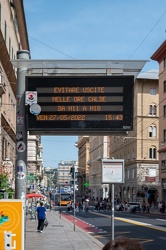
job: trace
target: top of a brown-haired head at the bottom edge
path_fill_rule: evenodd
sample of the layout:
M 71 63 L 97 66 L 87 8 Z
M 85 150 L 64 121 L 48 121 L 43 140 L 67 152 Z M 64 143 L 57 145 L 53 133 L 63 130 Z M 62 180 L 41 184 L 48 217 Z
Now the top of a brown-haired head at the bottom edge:
M 143 246 L 137 240 L 127 237 L 117 237 L 109 241 L 102 250 L 143 250 Z

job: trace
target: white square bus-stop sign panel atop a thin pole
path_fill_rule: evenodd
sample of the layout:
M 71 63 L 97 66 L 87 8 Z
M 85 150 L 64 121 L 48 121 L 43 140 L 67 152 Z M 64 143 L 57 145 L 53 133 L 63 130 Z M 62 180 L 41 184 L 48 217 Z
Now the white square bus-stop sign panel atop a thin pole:
M 102 183 L 124 183 L 123 159 L 102 159 Z

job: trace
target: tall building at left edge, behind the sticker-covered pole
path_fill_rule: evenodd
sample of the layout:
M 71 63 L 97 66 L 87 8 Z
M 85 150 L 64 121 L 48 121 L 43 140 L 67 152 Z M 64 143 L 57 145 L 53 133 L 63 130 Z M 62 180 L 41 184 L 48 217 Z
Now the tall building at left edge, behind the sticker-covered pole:
M 16 71 L 11 59 L 29 50 L 23 1 L 0 0 L 0 171 L 14 187 L 16 160 Z

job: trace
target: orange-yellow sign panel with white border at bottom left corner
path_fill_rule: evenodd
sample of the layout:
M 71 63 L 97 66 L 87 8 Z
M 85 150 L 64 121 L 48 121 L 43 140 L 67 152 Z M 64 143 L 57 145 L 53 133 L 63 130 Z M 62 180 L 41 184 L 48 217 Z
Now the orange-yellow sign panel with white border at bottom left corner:
M 0 249 L 24 250 L 23 200 L 0 200 Z

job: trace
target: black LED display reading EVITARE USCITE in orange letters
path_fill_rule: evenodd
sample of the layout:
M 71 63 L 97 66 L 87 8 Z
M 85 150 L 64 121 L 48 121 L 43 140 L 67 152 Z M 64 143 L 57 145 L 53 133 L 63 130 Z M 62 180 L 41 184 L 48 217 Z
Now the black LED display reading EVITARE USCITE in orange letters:
M 31 134 L 108 133 L 133 129 L 133 76 L 26 77 L 41 107 L 27 107 Z

